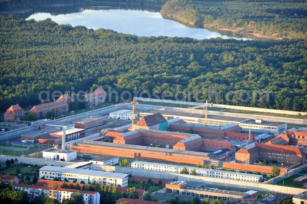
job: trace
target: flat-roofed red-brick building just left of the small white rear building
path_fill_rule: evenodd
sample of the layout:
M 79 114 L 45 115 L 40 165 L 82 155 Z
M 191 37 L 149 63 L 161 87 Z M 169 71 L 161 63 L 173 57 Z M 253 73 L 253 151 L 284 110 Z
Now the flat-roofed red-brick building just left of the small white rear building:
M 73 121 L 72 123 L 75 124 L 76 128 L 88 129 L 99 125 L 105 125 L 107 122 L 107 116 L 95 115 L 81 120 Z

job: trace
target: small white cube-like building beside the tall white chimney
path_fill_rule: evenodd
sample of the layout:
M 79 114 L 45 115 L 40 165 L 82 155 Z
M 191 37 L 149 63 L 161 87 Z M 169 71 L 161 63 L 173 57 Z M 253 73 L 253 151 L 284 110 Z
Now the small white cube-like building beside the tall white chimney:
M 71 161 L 77 158 L 77 152 L 63 149 L 49 149 L 43 151 L 43 159 L 60 161 Z

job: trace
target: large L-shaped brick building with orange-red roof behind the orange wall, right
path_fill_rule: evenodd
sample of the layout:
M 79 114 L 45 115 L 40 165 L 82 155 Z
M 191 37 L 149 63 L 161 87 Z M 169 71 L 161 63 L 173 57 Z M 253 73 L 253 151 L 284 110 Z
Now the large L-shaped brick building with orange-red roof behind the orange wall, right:
M 279 164 L 305 164 L 306 153 L 298 147 L 252 143 L 235 153 L 235 161 L 239 163 L 254 163 L 265 159 L 276 160 Z

